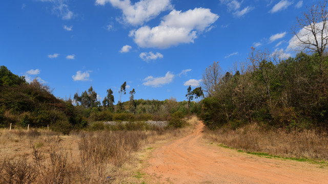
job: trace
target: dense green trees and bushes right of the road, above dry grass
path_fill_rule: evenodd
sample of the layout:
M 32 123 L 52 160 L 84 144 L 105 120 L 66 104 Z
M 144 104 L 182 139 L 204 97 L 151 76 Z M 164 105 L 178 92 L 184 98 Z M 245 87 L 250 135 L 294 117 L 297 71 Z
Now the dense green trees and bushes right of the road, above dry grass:
M 320 65 L 317 54 L 299 53 L 279 61 L 267 51 L 252 49 L 248 61 L 243 73 L 218 74 L 207 89 L 208 97 L 199 104 L 208 127 L 236 129 L 248 122 L 287 130 L 328 126 L 328 65 Z

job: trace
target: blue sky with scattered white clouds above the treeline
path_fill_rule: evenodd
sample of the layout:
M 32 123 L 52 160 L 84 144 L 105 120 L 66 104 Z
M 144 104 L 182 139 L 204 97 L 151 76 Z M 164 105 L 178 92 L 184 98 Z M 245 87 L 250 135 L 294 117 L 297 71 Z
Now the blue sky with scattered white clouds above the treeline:
M 4 0 L 0 65 L 60 98 L 91 85 L 100 98 L 127 81 L 135 99 L 185 100 L 214 61 L 223 70 L 251 47 L 294 56 L 291 26 L 318 1 Z

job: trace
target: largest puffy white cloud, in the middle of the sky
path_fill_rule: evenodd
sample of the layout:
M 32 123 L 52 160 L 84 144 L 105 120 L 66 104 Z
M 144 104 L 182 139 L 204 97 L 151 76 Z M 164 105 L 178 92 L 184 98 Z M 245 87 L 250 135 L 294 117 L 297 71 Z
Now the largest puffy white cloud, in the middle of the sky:
M 159 26 L 144 26 L 132 30 L 129 36 L 141 48 L 169 48 L 180 43 L 194 42 L 197 32 L 210 28 L 219 18 L 210 9 L 195 8 L 186 12 L 172 10 L 163 17 Z

